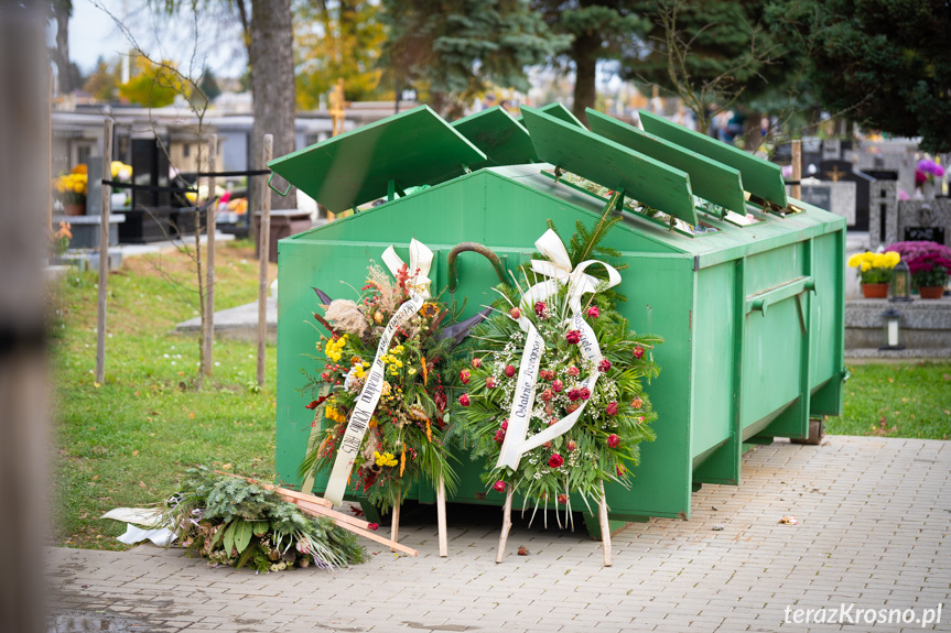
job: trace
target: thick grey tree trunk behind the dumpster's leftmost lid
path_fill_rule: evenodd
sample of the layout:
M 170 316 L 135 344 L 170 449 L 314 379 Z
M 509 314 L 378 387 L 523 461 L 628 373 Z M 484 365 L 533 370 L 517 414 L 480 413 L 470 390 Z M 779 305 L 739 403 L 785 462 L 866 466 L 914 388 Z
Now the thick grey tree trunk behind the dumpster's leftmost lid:
M 251 94 L 255 100 L 255 127 L 251 131 L 253 168 L 263 164 L 264 134 L 274 137 L 274 156 L 294 151 L 294 32 L 291 21 L 291 0 L 251 0 L 251 44 L 248 62 L 251 67 Z M 258 187 L 267 186 L 256 178 Z M 281 179 L 274 184 L 282 188 Z M 260 199 L 260 189 L 255 196 Z M 298 206 L 296 189 L 285 198 L 278 198 L 278 209 Z M 255 205 L 255 209 L 258 205 Z M 262 247 L 267 253 L 267 245 Z M 263 257 L 267 257 L 263 255 Z

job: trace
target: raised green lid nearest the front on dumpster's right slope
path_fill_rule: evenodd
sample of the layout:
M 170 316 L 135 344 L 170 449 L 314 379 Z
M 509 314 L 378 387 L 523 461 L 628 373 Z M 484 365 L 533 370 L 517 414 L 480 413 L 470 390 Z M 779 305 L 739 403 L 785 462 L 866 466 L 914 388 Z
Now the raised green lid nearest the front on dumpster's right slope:
M 690 177 L 624 145 L 523 107 L 538 157 L 696 225 Z

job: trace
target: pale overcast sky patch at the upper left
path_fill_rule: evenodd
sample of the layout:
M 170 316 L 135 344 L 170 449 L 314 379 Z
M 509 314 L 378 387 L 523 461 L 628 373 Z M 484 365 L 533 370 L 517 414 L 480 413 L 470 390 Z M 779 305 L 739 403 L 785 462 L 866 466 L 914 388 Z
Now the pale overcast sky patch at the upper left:
M 73 0 L 69 57 L 84 74 L 94 69 L 100 56 L 116 58 L 130 50 L 128 39 L 104 9 L 119 18 L 150 55 L 180 65 L 194 64 L 198 73 L 206 62 L 218 76 L 238 76 L 245 68 L 240 28 L 227 13 L 199 21 L 201 36 L 195 47 L 195 22 L 191 15 L 169 19 L 150 10 L 145 0 Z M 51 32 L 55 34 L 55 25 Z

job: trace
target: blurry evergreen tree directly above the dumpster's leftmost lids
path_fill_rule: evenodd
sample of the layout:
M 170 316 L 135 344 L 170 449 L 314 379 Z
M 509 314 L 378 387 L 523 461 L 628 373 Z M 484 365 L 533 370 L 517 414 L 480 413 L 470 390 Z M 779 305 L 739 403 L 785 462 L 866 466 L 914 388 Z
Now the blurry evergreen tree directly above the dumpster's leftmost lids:
M 527 0 L 382 0 L 389 36 L 381 66 L 395 90 L 429 92 L 449 116 L 491 85 L 526 91 L 526 67 L 570 44 Z

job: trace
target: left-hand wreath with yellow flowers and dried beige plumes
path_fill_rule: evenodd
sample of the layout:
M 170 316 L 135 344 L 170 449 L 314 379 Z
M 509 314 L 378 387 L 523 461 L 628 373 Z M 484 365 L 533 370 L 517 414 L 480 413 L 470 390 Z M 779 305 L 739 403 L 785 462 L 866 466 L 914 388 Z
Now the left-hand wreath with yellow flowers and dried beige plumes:
M 428 290 L 424 272 L 406 264 L 391 268 L 396 281 L 371 264 L 358 302 L 329 302 L 324 295 L 328 304 L 324 316 L 314 315 L 331 336 L 320 337 L 317 349 L 326 357 L 323 370 L 309 374 L 305 388 L 317 396 L 307 407 L 315 410 L 313 425 L 322 434 L 312 436 L 302 476 L 334 466 L 386 326 L 413 295 L 421 298 L 414 288 L 425 285 Z M 380 511 L 398 505 L 420 476 L 433 483 L 442 478 L 450 489 L 455 484 L 444 437 L 450 417 L 447 359 L 456 343 L 447 336 L 450 328 L 444 328 L 450 320 L 450 307 L 437 299 L 425 301 L 396 328 L 380 356 L 382 381 L 374 385 L 379 402 L 349 476 L 350 483 Z

